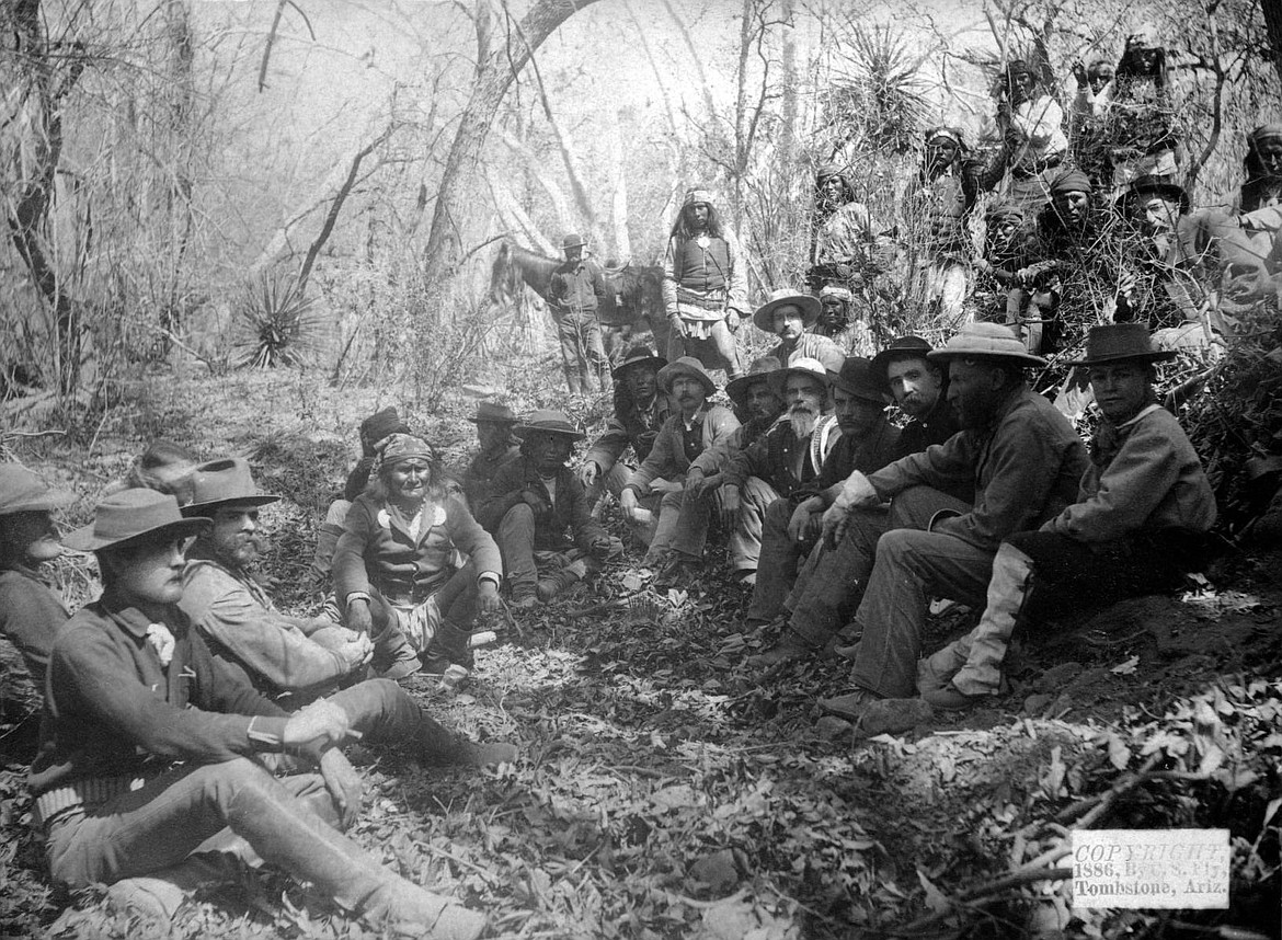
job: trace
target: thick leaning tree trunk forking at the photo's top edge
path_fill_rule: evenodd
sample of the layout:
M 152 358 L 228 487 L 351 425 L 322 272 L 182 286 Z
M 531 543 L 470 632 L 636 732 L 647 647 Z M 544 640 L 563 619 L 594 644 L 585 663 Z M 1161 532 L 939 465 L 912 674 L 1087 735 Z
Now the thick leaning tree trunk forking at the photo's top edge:
M 427 236 L 424 273 L 428 285 L 438 283 L 453 272 L 462 242 L 463 206 L 467 205 L 467 195 L 476 177 L 481 147 L 508 88 L 544 40 L 578 10 L 594 3 L 596 0 L 538 0 L 520 21 L 520 38 L 509 38 L 503 47 L 492 51 L 488 6 L 486 0 L 478 3 L 476 78 L 437 190 L 432 228 Z

